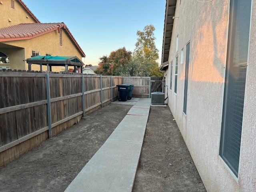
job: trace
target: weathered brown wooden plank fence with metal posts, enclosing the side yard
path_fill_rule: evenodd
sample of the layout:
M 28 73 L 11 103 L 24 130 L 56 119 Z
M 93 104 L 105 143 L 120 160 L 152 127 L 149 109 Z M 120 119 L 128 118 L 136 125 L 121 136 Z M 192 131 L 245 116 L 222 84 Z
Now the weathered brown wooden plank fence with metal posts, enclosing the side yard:
M 82 116 L 118 99 L 118 84 L 134 84 L 132 97 L 150 97 L 150 77 L 0 72 L 0 167 Z M 158 81 L 158 84 L 160 80 Z

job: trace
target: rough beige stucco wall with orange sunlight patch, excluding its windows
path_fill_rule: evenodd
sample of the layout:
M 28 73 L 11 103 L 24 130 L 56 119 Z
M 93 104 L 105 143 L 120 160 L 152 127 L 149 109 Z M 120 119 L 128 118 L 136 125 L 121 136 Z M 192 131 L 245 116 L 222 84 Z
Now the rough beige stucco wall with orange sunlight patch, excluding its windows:
M 190 154 L 208 192 L 256 191 L 256 2 L 253 1 L 252 29 L 238 182 L 222 162 L 219 154 L 222 118 L 224 70 L 226 67 L 229 0 L 200 3 L 178 1 L 166 70 L 170 84 L 173 60 L 172 91 L 168 105 L 176 119 Z M 176 37 L 178 35 L 178 52 Z M 187 113 L 183 113 L 186 44 L 190 42 Z M 180 53 L 184 48 L 184 63 Z M 179 54 L 177 94 L 174 94 L 175 56 Z

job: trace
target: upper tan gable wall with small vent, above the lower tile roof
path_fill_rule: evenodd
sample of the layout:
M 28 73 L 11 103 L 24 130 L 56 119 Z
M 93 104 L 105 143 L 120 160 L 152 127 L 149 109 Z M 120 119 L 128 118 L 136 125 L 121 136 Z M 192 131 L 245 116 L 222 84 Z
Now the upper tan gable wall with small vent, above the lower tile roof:
M 14 9 L 11 8 L 10 0 L 1 0 L 1 2 L 0 28 L 17 25 L 20 23 L 35 23 L 30 14 L 28 14 L 28 12 L 26 12 L 16 0 L 14 0 Z M 12 21 L 10 22 L 8 19 Z

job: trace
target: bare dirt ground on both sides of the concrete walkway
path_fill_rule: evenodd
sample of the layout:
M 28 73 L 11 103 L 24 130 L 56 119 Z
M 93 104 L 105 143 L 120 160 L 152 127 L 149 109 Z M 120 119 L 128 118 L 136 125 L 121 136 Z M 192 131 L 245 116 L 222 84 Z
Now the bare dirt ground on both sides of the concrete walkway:
M 0 168 L 1 192 L 63 192 L 131 105 L 110 104 Z M 168 107 L 151 107 L 134 192 L 204 192 Z M 172 164 L 172 166 L 170 166 Z

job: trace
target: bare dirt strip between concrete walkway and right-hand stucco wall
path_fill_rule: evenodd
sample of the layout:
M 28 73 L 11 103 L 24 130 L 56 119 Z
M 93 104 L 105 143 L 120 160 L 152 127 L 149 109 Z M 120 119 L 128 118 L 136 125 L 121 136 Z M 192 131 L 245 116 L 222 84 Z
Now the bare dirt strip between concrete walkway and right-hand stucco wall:
M 206 192 L 172 119 L 169 107 L 150 107 L 133 192 Z

